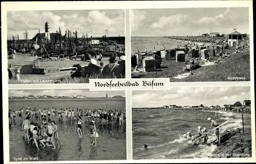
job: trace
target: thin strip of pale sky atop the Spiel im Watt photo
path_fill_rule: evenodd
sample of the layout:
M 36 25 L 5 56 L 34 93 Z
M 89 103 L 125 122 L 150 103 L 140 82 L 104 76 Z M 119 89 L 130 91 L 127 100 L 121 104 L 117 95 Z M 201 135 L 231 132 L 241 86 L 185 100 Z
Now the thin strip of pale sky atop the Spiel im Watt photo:
M 120 95 L 125 97 L 124 91 L 100 91 L 94 92 L 89 89 L 61 89 L 61 90 L 9 90 L 9 97 L 23 97 L 23 96 L 77 96 L 83 95 L 88 97 L 105 97 L 108 94 L 109 97 Z

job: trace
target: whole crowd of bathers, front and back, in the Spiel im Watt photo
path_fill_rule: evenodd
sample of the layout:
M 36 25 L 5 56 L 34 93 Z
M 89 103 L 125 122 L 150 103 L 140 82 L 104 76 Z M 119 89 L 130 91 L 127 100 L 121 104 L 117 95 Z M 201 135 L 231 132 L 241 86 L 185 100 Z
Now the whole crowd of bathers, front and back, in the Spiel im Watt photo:
M 90 110 L 90 109 L 73 109 L 71 108 L 31 108 L 29 105 L 26 110 L 22 108 L 18 111 L 9 110 L 10 128 L 22 127 L 24 130 L 24 139 L 35 144 L 37 150 L 39 147 L 53 147 L 56 149 L 57 143 L 60 144 L 58 132 L 64 128 L 69 131 L 68 125 L 75 127 L 79 139 L 82 138 L 84 129 L 90 127 L 92 146 L 97 146 L 99 134 L 97 127 L 102 125 L 119 126 L 125 125 L 125 113 L 119 110 Z

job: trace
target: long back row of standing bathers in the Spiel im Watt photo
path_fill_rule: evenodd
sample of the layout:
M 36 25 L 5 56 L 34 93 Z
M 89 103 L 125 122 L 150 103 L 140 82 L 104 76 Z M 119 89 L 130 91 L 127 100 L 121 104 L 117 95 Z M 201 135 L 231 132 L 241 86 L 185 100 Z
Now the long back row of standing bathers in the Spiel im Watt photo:
M 31 108 L 28 106 L 26 110 L 20 108 L 18 111 L 9 110 L 10 124 L 20 126 L 20 120 L 24 120 L 27 116 L 31 121 L 39 124 L 42 119 L 55 121 L 58 125 L 67 127 L 66 125 L 74 125 L 78 121 L 76 116 L 81 117 L 84 123 L 94 121 L 97 125 L 115 126 L 125 125 L 125 112 L 121 110 L 104 110 L 104 109 L 79 109 L 79 108 Z

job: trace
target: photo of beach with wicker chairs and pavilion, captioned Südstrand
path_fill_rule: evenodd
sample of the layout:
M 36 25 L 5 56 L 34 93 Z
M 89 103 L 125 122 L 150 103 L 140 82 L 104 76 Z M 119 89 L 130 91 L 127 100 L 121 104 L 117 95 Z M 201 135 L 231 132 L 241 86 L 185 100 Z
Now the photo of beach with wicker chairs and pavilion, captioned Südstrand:
M 132 78 L 250 81 L 251 36 L 248 7 L 131 9 Z

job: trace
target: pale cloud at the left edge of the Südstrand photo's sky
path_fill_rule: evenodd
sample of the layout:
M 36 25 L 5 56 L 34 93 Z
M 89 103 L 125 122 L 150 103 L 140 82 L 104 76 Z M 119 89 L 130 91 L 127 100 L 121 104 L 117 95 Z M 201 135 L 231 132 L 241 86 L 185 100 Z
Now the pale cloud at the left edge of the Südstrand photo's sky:
M 146 12 L 141 10 L 131 10 L 131 30 L 137 31 L 142 25 L 142 21 L 146 18 Z

